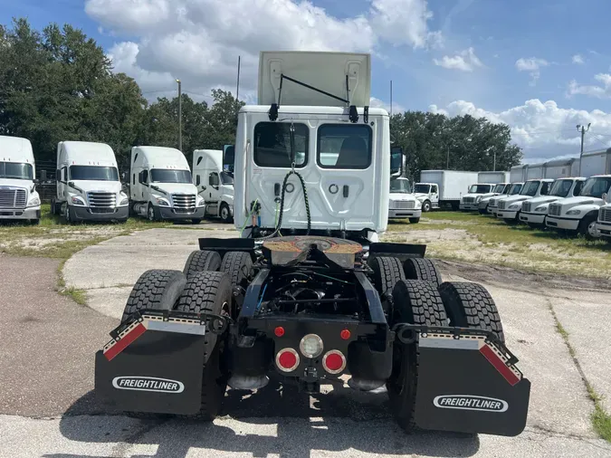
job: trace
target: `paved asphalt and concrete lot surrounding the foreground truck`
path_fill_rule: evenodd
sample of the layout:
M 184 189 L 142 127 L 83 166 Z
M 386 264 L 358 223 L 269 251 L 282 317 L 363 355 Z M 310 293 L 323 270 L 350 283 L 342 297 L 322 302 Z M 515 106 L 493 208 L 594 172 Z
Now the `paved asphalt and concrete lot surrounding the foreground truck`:
M 229 390 L 213 424 L 101 415 L 91 394 L 93 354 L 117 323 L 126 285 L 150 268 L 182 270 L 197 236 L 231 235 L 155 229 L 77 253 L 64 277 L 86 289 L 91 308 L 53 292 L 56 262 L 0 257 L 0 457 L 611 457 L 611 444 L 592 431 L 592 403 L 549 309 L 586 377 L 611 395 L 611 292 L 452 263 L 442 263 L 444 280 L 481 280 L 492 292 L 507 345 L 532 383 L 520 436 L 406 435 L 386 393 L 345 386 L 318 396 L 273 383 L 249 396 Z

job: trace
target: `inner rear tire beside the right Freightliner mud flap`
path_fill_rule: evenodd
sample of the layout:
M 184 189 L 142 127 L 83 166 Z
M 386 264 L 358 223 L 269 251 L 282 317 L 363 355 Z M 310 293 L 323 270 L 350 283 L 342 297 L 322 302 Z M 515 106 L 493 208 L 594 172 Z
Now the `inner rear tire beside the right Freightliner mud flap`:
M 433 283 L 404 280 L 393 290 L 393 324 L 411 323 L 447 326 L 444 302 Z M 393 344 L 393 372 L 387 393 L 396 422 L 406 432 L 414 429 L 415 394 L 418 382 L 418 346 L 396 339 Z

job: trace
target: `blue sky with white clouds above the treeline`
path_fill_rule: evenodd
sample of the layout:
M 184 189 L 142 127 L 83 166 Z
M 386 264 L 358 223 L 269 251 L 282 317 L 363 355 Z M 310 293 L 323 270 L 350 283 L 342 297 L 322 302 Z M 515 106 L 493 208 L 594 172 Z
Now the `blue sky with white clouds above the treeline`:
M 253 99 L 262 49 L 371 52 L 372 104 L 392 80 L 394 110 L 507 122 L 528 160 L 578 152 L 578 123 L 587 149 L 611 140 L 604 0 L 0 0 L 0 22 L 13 16 L 81 27 L 151 98 L 175 78 L 200 99 L 234 91 L 241 55 Z

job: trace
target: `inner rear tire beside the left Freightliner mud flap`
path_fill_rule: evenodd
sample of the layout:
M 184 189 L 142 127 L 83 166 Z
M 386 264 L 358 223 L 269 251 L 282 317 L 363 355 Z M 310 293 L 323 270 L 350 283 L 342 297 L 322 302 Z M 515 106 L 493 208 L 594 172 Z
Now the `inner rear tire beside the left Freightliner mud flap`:
M 186 282 L 178 299 L 177 310 L 195 313 L 227 314 L 231 302 L 231 281 L 225 272 L 197 272 Z M 187 415 L 205 421 L 215 419 L 223 403 L 227 388 L 227 371 L 224 350 L 226 334 L 205 334 L 205 363 L 202 377 L 202 403 L 196 415 Z

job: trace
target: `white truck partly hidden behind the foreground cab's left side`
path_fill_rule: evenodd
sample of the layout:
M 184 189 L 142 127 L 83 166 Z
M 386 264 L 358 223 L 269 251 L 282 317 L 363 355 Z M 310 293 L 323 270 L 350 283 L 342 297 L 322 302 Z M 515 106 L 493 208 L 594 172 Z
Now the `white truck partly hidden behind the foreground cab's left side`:
M 205 216 L 230 223 L 234 217 L 234 176 L 224 170 L 222 149 L 193 152 L 193 184 L 204 197 Z

